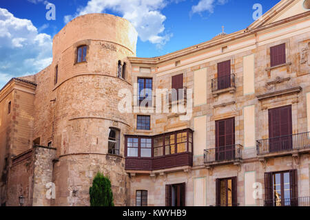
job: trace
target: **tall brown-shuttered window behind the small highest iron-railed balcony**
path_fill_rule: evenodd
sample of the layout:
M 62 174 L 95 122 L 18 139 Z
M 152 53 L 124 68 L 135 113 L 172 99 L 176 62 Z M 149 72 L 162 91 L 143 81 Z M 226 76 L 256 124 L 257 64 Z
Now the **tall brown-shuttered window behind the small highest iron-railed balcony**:
M 218 63 L 218 90 L 231 87 L 230 60 Z

